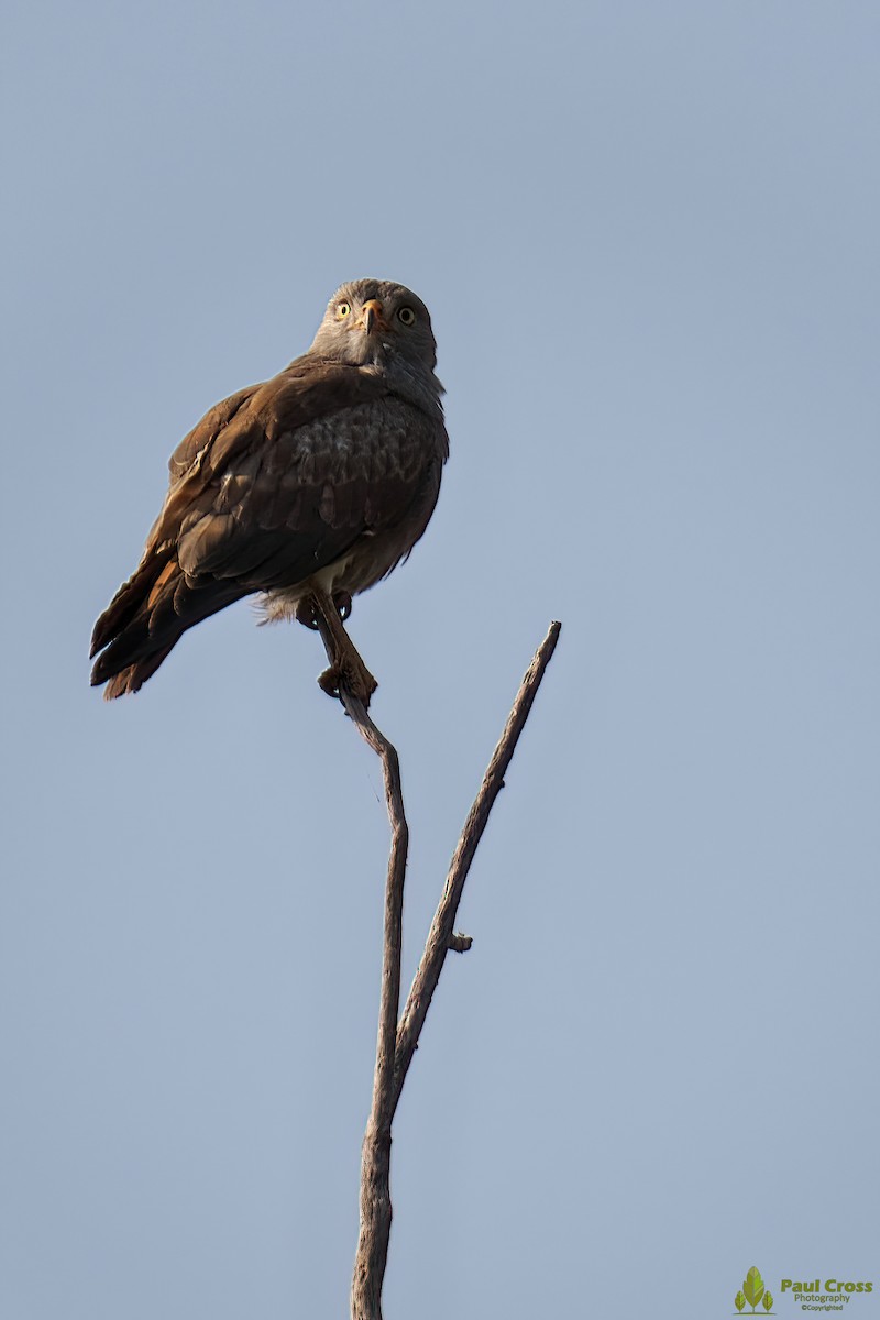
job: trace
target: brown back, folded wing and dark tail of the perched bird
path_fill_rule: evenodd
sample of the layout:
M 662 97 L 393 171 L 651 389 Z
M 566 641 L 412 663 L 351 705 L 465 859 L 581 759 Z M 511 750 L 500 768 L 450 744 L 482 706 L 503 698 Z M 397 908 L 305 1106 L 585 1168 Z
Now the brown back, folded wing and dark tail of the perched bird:
M 218 404 L 173 454 L 141 564 L 95 626 L 92 682 L 137 690 L 186 628 L 410 516 L 404 554 L 430 516 L 445 441 L 377 375 L 309 355 Z

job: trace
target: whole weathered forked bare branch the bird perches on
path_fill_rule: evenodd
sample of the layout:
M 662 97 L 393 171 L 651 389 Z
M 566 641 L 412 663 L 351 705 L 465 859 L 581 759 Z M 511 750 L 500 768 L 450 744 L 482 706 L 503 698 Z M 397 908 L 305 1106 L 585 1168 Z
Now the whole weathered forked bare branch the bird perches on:
M 376 1072 L 373 1098 L 364 1134 L 360 1168 L 360 1234 L 355 1272 L 351 1283 L 352 1320 L 381 1320 L 381 1290 L 388 1262 L 391 1237 L 391 1129 L 400 1101 L 406 1072 L 418 1045 L 418 1038 L 427 1016 L 431 997 L 437 989 L 443 962 L 450 949 L 463 953 L 470 949 L 467 936 L 454 935 L 453 924 L 462 899 L 464 880 L 478 843 L 486 829 L 492 804 L 504 787 L 504 774 L 511 763 L 516 743 L 529 717 L 532 702 L 550 663 L 559 636 L 561 624 L 551 623 L 520 685 L 507 725 L 483 783 L 468 813 L 458 841 L 443 894 L 434 913 L 427 944 L 413 979 L 406 1007 L 397 1022 L 400 1007 L 400 964 L 402 945 L 404 879 L 409 828 L 404 813 L 397 752 L 367 714 L 360 696 L 352 696 L 346 675 L 360 677 L 369 673 L 351 639 L 342 627 L 329 620 L 332 609 L 326 598 L 315 602 L 315 622 L 321 632 L 334 676 L 340 676 L 338 696 L 354 721 L 361 738 L 372 747 L 383 763 L 385 801 L 391 821 L 392 840 L 385 882 L 385 932 L 383 948 L 381 995 L 379 1006 L 379 1040 L 376 1044 Z M 340 642 L 340 632 L 344 643 Z M 351 649 L 351 655 L 342 655 Z M 363 688 L 361 688 L 363 690 Z M 368 700 L 368 694 L 367 694 Z

